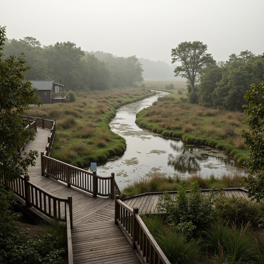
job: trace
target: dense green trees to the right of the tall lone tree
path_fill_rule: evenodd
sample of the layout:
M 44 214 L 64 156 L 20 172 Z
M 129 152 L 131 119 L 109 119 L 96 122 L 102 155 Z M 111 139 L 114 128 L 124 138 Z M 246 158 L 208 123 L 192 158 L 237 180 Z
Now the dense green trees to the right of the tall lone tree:
M 231 54 L 226 62 L 207 65 L 196 85 L 199 105 L 242 111 L 244 95 L 252 83 L 261 81 L 264 61 L 251 51 Z

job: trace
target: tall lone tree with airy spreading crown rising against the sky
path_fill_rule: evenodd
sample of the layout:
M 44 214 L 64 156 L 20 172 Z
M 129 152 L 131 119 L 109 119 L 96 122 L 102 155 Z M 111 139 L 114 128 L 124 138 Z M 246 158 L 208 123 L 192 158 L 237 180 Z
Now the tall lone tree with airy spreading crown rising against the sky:
M 174 70 L 175 77 L 187 78 L 191 84 L 189 92 L 195 92 L 196 77 L 202 74 L 202 69 L 208 64 L 215 64 L 211 54 L 206 53 L 207 45 L 200 41 L 182 42 L 177 48 L 171 50 L 172 62 L 181 62 Z

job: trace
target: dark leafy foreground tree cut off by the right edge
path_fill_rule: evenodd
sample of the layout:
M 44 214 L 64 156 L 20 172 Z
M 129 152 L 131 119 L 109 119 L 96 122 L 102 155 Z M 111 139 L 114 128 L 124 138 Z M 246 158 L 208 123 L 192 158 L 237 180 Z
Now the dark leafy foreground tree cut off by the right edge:
M 244 181 L 248 183 L 249 197 L 259 202 L 264 199 L 264 75 L 263 81 L 250 86 L 244 98 L 248 102 L 243 107 L 249 131 L 240 133 L 248 147 L 245 165 L 251 170 Z

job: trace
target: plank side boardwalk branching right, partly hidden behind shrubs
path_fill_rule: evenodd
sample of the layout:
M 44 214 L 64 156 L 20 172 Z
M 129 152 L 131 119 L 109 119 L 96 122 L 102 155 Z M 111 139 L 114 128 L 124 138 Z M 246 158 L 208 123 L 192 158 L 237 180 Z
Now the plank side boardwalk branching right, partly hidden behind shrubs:
M 248 191 L 244 188 L 224 188 L 225 195 L 228 197 L 231 197 L 232 194 L 234 194 L 236 197 L 242 196 L 249 200 L 248 198 Z M 210 190 L 202 190 L 201 194 L 203 195 L 209 195 Z M 127 204 L 129 207 L 138 207 L 139 213 L 157 213 L 157 205 L 160 200 L 161 195 L 163 192 L 156 192 L 156 193 L 145 193 L 145 194 L 139 194 L 131 198 L 127 198 L 123 200 L 125 204 Z M 169 194 L 172 196 L 172 199 L 174 200 L 177 196 L 177 191 L 175 192 L 169 192 Z M 188 195 L 188 193 L 187 193 Z

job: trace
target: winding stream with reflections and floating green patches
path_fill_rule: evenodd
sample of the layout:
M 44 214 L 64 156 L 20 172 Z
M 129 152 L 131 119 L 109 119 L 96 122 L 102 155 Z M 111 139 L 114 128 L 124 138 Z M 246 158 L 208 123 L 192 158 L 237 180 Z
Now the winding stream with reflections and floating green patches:
M 135 124 L 136 113 L 151 106 L 158 96 L 165 94 L 168 93 L 157 92 L 155 96 L 122 106 L 116 111 L 110 127 L 113 132 L 125 138 L 127 148 L 125 153 L 97 163 L 97 174 L 110 176 L 114 172 L 119 188 L 135 177 L 155 171 L 186 176 L 197 171 L 203 175 L 239 171 L 245 175 L 244 169 L 223 151 L 187 144 L 180 139 L 161 136 Z

